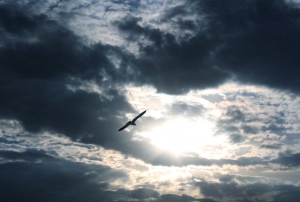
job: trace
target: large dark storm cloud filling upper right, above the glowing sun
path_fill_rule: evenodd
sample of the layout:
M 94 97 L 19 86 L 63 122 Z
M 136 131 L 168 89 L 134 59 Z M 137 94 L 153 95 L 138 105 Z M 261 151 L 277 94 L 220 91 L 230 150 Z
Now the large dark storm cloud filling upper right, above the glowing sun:
M 182 22 L 187 13 L 198 18 Z M 192 30 L 182 40 L 140 25 L 140 17 L 114 23 L 129 40 L 151 42 L 139 42 L 134 66 L 141 73 L 137 81 L 159 91 L 216 86 L 234 74 L 242 82 L 299 92 L 299 17 L 300 9 L 284 0 L 187 0 L 161 17 L 163 23 L 175 18 L 182 29 Z

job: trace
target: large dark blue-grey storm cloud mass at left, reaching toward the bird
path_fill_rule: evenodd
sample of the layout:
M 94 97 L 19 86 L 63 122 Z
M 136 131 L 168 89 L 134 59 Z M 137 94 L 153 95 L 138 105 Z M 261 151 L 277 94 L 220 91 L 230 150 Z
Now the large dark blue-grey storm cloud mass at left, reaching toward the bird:
M 105 89 L 102 82 L 103 71 L 115 78 L 105 53 L 120 54 L 118 48 L 86 46 L 56 21 L 44 15 L 27 16 L 17 6 L 11 7 L 1 5 L 6 10 L 1 13 L 5 15 L 2 33 L 7 37 L 0 47 L 0 118 L 17 119 L 30 132 L 51 130 L 73 139 L 97 134 L 98 142 L 93 143 L 126 138 L 110 134 L 107 128 L 122 124 L 115 115 L 133 110 L 122 95 L 112 88 Z M 25 22 L 18 18 L 25 18 Z M 10 26 L 21 29 L 17 32 Z M 24 30 L 30 34 L 10 39 Z M 103 94 L 66 87 L 78 86 L 78 79 L 103 86 Z

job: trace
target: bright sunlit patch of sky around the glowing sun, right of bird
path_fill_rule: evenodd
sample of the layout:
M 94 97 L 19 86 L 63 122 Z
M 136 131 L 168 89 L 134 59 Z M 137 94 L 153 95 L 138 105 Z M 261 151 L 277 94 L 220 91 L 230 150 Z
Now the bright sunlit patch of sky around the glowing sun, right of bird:
M 207 158 L 275 157 L 267 148 L 299 149 L 293 134 L 300 131 L 300 99 L 290 93 L 227 83 L 183 95 L 128 86 L 126 97 L 137 111 L 148 109 L 144 116 L 167 119 L 149 131 L 136 132 L 136 138 L 149 138 L 175 153 L 193 151 Z

